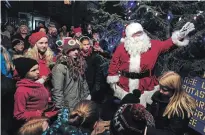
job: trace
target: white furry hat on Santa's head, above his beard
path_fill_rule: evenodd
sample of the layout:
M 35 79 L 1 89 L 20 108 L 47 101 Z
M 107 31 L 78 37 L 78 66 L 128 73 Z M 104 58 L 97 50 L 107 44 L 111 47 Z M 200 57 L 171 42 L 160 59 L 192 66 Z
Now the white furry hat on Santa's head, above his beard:
M 126 27 L 125 33 L 127 37 L 131 37 L 138 31 L 143 31 L 142 25 L 139 23 L 131 23 Z

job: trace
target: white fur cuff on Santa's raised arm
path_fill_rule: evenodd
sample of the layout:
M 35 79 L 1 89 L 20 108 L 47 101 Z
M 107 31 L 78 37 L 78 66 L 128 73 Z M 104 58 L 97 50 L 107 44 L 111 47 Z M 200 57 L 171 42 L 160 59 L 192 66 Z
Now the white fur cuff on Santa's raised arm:
M 187 46 L 189 44 L 188 37 L 185 37 L 182 41 L 179 40 L 179 31 L 173 32 L 172 41 L 177 46 Z

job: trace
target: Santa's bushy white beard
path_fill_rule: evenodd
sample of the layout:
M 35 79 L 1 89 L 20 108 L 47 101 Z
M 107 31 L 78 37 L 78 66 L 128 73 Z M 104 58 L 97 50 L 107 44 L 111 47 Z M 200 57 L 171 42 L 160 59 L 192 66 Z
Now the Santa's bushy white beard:
M 150 38 L 146 33 L 140 37 L 126 37 L 124 46 L 131 56 L 142 54 L 151 47 Z

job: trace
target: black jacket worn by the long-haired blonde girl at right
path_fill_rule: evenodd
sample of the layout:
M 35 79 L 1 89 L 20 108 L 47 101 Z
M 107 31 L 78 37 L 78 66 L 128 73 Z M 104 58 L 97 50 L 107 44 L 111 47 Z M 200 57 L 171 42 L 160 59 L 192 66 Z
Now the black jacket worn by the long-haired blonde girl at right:
M 163 100 L 159 91 L 152 96 L 153 103 L 148 108 L 155 119 L 155 128 L 148 127 L 147 135 L 183 135 L 188 129 L 189 118 L 174 116 L 168 119 L 163 113 L 169 103 Z

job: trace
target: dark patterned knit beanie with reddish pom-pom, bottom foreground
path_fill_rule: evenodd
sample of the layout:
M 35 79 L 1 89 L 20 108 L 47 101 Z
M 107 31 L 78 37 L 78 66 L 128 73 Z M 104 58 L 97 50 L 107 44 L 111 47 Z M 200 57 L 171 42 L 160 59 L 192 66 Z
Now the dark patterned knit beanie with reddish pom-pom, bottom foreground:
M 146 126 L 154 127 L 153 116 L 141 104 L 123 104 L 111 120 L 113 135 L 143 135 Z

